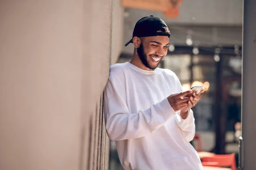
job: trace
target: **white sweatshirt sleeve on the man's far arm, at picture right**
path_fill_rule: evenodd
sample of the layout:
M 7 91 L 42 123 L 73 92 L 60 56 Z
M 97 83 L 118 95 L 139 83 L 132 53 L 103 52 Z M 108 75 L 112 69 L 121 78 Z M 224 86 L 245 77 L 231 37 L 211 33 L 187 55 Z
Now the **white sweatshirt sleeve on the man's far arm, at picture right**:
M 175 79 L 176 79 L 178 92 L 182 92 L 180 80 L 177 78 L 176 75 L 175 75 Z M 181 118 L 180 112 L 178 111 L 175 117 L 175 121 L 177 125 L 180 127 L 183 137 L 187 141 L 192 141 L 192 139 L 195 136 L 195 118 L 194 118 L 192 109 L 189 109 L 189 114 L 186 119 Z

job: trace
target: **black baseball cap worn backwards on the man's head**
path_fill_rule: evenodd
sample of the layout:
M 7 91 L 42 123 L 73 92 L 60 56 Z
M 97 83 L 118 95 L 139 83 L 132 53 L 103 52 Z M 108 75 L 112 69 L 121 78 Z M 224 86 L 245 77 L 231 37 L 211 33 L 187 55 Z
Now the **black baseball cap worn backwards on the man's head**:
M 148 17 L 141 18 L 135 24 L 132 38 L 127 43 L 125 43 L 125 46 L 127 46 L 129 43 L 132 43 L 133 37 L 151 37 L 157 35 L 170 37 L 170 33 L 157 32 L 161 30 L 161 27 L 168 28 L 166 23 L 158 17 L 150 15 Z

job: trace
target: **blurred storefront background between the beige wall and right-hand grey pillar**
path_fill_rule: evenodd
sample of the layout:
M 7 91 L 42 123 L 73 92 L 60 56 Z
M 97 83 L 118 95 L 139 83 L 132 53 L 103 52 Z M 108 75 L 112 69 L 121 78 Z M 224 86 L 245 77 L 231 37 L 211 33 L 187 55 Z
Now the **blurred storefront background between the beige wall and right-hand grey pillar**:
M 193 108 L 196 138 L 191 143 L 204 154 L 235 153 L 238 166 L 243 2 L 169 0 L 167 11 L 157 1 L 122 0 L 122 4 L 123 43 L 132 37 L 141 17 L 154 15 L 166 22 L 171 45 L 159 67 L 174 71 L 184 91 L 194 85 L 206 90 Z M 131 60 L 133 48 L 132 44 L 123 48 L 117 62 Z M 110 169 L 122 170 L 113 141 L 110 149 Z

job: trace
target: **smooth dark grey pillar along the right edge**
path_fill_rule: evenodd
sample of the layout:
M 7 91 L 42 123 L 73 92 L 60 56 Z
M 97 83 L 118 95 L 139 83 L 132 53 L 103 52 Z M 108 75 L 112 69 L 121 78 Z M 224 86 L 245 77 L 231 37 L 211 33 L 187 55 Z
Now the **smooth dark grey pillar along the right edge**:
M 242 137 L 244 168 L 256 169 L 256 1 L 244 0 L 242 67 Z

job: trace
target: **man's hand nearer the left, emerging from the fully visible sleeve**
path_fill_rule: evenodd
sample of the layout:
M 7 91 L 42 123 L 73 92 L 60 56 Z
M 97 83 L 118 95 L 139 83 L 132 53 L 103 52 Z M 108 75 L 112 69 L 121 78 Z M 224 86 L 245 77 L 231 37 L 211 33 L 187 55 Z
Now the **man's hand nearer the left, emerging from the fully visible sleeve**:
M 177 93 L 174 95 L 169 95 L 167 97 L 169 104 L 175 112 L 179 111 L 182 108 L 188 107 L 189 97 L 184 97 L 185 95 L 192 93 L 192 90 L 187 90 L 186 92 Z

